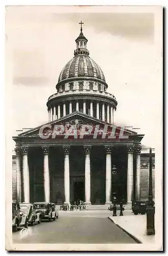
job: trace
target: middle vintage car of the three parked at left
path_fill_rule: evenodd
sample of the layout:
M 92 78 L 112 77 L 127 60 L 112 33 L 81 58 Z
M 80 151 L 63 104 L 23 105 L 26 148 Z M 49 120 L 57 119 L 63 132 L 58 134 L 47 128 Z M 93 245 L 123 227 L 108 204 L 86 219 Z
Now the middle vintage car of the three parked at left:
M 26 214 L 30 225 L 41 222 L 39 212 L 36 212 L 36 205 L 32 203 L 19 203 L 20 214 Z

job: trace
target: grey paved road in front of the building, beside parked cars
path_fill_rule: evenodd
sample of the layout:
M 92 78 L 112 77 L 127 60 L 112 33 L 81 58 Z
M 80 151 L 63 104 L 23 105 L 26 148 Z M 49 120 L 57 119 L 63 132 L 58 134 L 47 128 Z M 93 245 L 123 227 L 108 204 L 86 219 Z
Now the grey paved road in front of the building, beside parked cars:
M 136 243 L 107 219 L 108 210 L 60 211 L 59 214 L 55 221 L 43 221 L 33 226 L 32 233 L 22 239 L 20 231 L 14 232 L 13 243 Z

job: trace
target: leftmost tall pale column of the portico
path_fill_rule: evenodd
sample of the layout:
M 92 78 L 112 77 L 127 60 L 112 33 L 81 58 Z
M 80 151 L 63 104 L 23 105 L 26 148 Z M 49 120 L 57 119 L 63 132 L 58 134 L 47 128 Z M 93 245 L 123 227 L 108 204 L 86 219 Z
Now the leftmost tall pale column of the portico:
M 20 148 L 15 148 L 16 153 L 16 190 L 17 190 L 17 201 L 21 202 L 21 156 Z

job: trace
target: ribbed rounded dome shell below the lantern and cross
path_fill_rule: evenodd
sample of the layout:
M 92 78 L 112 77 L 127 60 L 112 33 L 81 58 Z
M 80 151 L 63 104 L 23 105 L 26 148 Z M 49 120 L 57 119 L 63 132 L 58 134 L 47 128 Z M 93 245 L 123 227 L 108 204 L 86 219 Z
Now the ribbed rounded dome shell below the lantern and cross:
M 60 73 L 58 82 L 73 77 L 94 77 L 105 82 L 101 68 L 85 54 L 76 55 L 65 65 Z

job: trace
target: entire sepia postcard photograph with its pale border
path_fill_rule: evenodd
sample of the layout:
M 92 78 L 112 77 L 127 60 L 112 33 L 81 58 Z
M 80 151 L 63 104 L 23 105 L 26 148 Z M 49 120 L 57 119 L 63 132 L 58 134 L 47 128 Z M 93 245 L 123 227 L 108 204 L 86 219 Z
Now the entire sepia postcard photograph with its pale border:
M 6 250 L 162 250 L 162 7 L 5 12 Z

